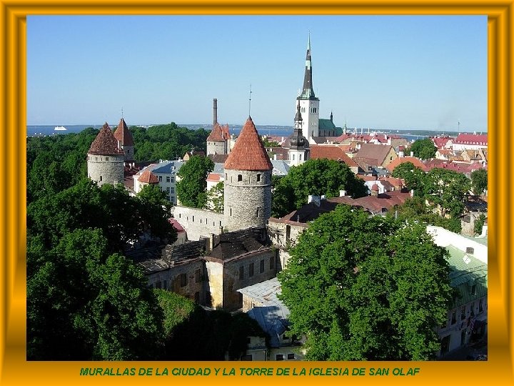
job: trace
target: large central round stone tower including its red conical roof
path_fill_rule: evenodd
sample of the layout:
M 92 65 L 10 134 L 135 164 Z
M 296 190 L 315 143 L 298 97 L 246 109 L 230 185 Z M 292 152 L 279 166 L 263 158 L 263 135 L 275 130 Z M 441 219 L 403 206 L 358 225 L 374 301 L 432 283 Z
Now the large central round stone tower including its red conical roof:
M 273 165 L 251 117 L 225 162 L 224 217 L 228 231 L 266 225 L 271 216 Z

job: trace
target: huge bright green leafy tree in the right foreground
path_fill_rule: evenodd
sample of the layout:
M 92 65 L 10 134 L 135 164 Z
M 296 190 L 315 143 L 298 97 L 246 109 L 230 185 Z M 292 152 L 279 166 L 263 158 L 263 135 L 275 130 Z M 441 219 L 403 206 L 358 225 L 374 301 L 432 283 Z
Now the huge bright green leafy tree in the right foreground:
M 446 254 L 420 224 L 336 207 L 278 276 L 291 333 L 307 336 L 309 360 L 432 359 L 453 296 Z

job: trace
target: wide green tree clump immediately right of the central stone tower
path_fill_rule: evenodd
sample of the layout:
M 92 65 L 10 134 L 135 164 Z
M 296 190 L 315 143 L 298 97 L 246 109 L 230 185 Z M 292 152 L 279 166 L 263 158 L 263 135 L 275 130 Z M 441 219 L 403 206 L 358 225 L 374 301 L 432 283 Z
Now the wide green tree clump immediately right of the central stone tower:
M 308 195 L 337 197 L 344 189 L 353 198 L 367 194 L 366 185 L 343 162 L 309 159 L 291 167 L 287 176 L 275 182 L 271 214 L 282 217 L 307 203 Z

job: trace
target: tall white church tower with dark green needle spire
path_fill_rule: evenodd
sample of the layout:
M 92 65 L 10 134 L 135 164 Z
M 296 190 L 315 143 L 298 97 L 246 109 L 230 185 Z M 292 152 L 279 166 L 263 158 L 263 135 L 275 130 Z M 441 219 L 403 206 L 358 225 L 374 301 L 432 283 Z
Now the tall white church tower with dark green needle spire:
M 303 137 L 312 142 L 312 137 L 319 137 L 319 99 L 314 95 L 312 84 L 312 61 L 311 61 L 311 35 L 307 42 L 306 69 L 303 76 L 303 90 L 296 98 L 300 104 L 300 112 L 303 117 Z

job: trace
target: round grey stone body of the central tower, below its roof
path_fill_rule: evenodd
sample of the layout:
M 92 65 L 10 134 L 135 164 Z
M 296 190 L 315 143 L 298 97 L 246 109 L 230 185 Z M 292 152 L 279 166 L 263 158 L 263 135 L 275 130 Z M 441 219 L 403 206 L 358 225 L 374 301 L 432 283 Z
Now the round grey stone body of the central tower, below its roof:
M 231 232 L 265 225 L 271 216 L 271 170 L 225 172 L 226 229 Z

